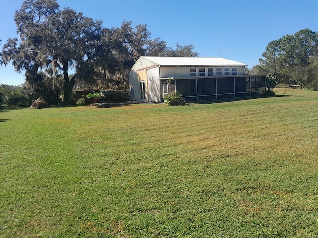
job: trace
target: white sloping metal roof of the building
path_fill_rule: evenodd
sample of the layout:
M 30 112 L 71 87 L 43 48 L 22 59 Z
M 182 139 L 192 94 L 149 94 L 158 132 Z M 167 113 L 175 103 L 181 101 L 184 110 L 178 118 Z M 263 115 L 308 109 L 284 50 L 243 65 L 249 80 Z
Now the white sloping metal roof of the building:
M 159 66 L 247 66 L 247 64 L 220 57 L 159 57 L 141 56 Z

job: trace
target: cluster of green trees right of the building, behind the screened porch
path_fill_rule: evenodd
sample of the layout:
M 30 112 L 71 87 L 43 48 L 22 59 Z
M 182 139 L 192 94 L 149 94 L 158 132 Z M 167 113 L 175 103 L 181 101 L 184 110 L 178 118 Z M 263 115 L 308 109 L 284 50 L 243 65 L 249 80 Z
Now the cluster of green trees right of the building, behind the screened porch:
M 286 79 L 288 85 L 318 90 L 318 32 L 303 29 L 271 41 L 250 73 L 268 75 L 273 87 Z

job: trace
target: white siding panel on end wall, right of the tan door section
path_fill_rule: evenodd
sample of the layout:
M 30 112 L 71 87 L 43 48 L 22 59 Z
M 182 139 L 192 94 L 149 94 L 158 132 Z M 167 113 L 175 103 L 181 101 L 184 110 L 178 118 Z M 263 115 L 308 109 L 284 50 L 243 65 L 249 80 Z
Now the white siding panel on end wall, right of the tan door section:
M 148 101 L 160 102 L 160 74 L 159 67 L 147 70 Z

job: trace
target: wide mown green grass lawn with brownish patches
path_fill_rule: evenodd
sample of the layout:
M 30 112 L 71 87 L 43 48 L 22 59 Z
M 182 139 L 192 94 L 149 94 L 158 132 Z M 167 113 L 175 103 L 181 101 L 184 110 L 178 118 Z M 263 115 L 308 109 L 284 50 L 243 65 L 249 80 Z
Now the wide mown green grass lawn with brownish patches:
M 0 237 L 318 237 L 318 92 L 1 108 Z

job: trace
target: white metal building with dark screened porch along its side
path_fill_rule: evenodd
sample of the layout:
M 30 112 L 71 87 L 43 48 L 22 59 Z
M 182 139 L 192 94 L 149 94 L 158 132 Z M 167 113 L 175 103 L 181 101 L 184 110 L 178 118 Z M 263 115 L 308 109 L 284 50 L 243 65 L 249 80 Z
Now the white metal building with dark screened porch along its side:
M 136 101 L 164 102 L 168 82 L 187 101 L 246 97 L 265 90 L 264 77 L 246 75 L 247 64 L 214 57 L 141 56 L 129 72 Z

